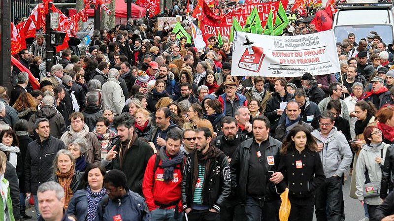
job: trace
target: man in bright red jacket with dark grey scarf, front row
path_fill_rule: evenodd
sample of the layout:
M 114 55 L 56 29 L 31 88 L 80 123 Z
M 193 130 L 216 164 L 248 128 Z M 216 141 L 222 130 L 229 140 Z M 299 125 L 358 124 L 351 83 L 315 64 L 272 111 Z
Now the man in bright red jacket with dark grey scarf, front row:
M 182 220 L 181 183 L 186 157 L 181 144 L 180 132 L 168 132 L 165 146 L 148 161 L 142 192 L 152 221 Z

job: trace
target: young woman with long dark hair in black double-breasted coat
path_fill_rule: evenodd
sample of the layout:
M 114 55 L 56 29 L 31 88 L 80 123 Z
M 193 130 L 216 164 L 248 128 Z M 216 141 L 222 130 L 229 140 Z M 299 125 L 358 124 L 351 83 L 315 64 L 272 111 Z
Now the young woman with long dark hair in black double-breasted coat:
M 317 143 L 308 129 L 297 125 L 286 136 L 280 153 L 278 170 L 289 188 L 289 221 L 312 221 L 314 195 L 325 180 Z

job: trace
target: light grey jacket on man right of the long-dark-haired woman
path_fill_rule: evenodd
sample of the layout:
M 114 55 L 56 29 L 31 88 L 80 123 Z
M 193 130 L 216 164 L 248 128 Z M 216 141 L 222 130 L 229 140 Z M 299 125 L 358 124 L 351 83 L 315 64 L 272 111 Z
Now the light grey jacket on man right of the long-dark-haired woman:
M 312 135 L 316 138 L 318 144 L 323 144 L 323 150 L 319 152 L 319 155 L 326 178 L 333 175 L 341 177 L 349 168 L 353 158 L 352 150 L 345 135 L 339 132 L 335 126 L 332 127 L 324 142 L 320 129 L 315 129 Z

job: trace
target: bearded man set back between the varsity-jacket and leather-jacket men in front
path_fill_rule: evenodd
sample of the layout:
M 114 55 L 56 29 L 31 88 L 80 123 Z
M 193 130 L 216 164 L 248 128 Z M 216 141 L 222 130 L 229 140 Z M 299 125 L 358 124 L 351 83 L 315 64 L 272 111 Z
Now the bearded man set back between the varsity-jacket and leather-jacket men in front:
M 238 123 L 235 118 L 225 117 L 222 120 L 223 135 L 219 135 L 211 141 L 211 144 L 219 147 L 226 154 L 229 163 L 238 145 L 249 138 L 244 134 L 238 134 L 237 131 Z M 220 210 L 222 211 L 221 221 L 242 221 L 245 217 L 245 208 L 241 205 L 240 199 L 235 196 L 235 192 L 223 202 Z

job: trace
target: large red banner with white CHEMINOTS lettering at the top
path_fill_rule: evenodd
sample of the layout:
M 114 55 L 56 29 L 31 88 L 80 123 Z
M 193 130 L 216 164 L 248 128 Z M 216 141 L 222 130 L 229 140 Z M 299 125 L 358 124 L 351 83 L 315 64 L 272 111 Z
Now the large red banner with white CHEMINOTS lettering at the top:
M 252 0 L 257 1 L 257 0 Z M 282 5 L 284 8 L 287 7 L 289 3 L 288 0 L 280 0 L 282 1 Z M 202 32 L 204 37 L 204 41 L 207 42 L 208 38 L 213 35 L 218 35 L 218 32 L 222 36 L 230 36 L 231 25 L 232 25 L 232 17 L 235 17 L 241 26 L 244 26 L 246 23 L 246 18 L 250 15 L 253 8 L 256 7 L 259 12 L 260 20 L 262 21 L 262 26 L 265 27 L 265 23 L 268 19 L 269 11 L 272 9 L 274 15 L 279 9 L 279 0 L 271 1 L 266 3 L 251 3 L 251 4 L 243 4 L 237 8 L 232 9 L 224 16 L 218 16 L 214 14 L 208 5 L 203 2 L 203 7 L 201 8 L 201 12 L 197 13 L 199 19 L 199 29 Z

